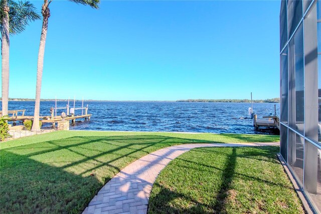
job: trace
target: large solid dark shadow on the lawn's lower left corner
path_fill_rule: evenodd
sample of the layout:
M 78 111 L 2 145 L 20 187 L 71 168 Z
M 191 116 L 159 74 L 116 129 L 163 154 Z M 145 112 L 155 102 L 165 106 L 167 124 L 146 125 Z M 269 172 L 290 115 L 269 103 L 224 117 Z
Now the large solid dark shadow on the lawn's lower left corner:
M 1 151 L 0 183 L 1 213 L 77 213 L 101 186 L 94 176 L 77 176 L 8 151 Z

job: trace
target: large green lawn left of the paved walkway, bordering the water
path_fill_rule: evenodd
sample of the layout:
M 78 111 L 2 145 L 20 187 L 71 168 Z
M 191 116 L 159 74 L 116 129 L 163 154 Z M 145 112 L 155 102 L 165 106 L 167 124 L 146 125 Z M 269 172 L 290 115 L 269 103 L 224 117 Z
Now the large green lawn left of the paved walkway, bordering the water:
M 129 163 L 186 143 L 273 142 L 279 136 L 59 131 L 0 143 L 0 212 L 81 212 Z

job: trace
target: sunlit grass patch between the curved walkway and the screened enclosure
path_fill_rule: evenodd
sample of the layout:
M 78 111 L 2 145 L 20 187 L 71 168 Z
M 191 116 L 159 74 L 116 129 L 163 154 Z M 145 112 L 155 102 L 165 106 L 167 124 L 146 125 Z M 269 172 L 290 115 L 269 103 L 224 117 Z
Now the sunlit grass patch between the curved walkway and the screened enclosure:
M 159 174 L 148 213 L 304 213 L 279 147 L 198 148 Z

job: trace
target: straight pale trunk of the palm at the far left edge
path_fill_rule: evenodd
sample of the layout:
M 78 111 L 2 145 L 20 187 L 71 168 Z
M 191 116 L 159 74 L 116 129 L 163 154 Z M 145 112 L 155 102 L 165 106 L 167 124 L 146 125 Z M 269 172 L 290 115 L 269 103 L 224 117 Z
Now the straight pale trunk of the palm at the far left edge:
M 8 99 L 9 99 L 9 7 L 7 1 L 3 2 L 4 17 L 2 20 L 2 115 L 8 115 Z

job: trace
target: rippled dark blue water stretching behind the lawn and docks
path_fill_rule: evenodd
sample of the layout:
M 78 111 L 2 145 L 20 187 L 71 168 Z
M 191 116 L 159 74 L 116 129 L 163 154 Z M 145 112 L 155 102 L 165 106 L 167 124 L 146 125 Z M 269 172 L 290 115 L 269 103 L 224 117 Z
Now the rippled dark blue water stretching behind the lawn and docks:
M 57 107 L 66 104 L 58 101 Z M 252 120 L 239 119 L 248 117 L 250 103 L 91 101 L 86 104 L 88 114 L 93 115 L 90 122 L 78 120 L 71 130 L 260 133 L 254 130 Z M 49 116 L 52 106 L 54 101 L 42 101 L 41 115 Z M 76 102 L 75 107 L 81 107 L 81 102 Z M 10 101 L 9 110 L 17 109 L 33 115 L 34 101 Z M 258 115 L 274 114 L 274 103 L 253 103 L 253 109 Z M 279 103 L 276 109 L 279 114 Z M 61 113 L 57 110 L 57 115 Z M 81 115 L 81 110 L 75 114 Z

